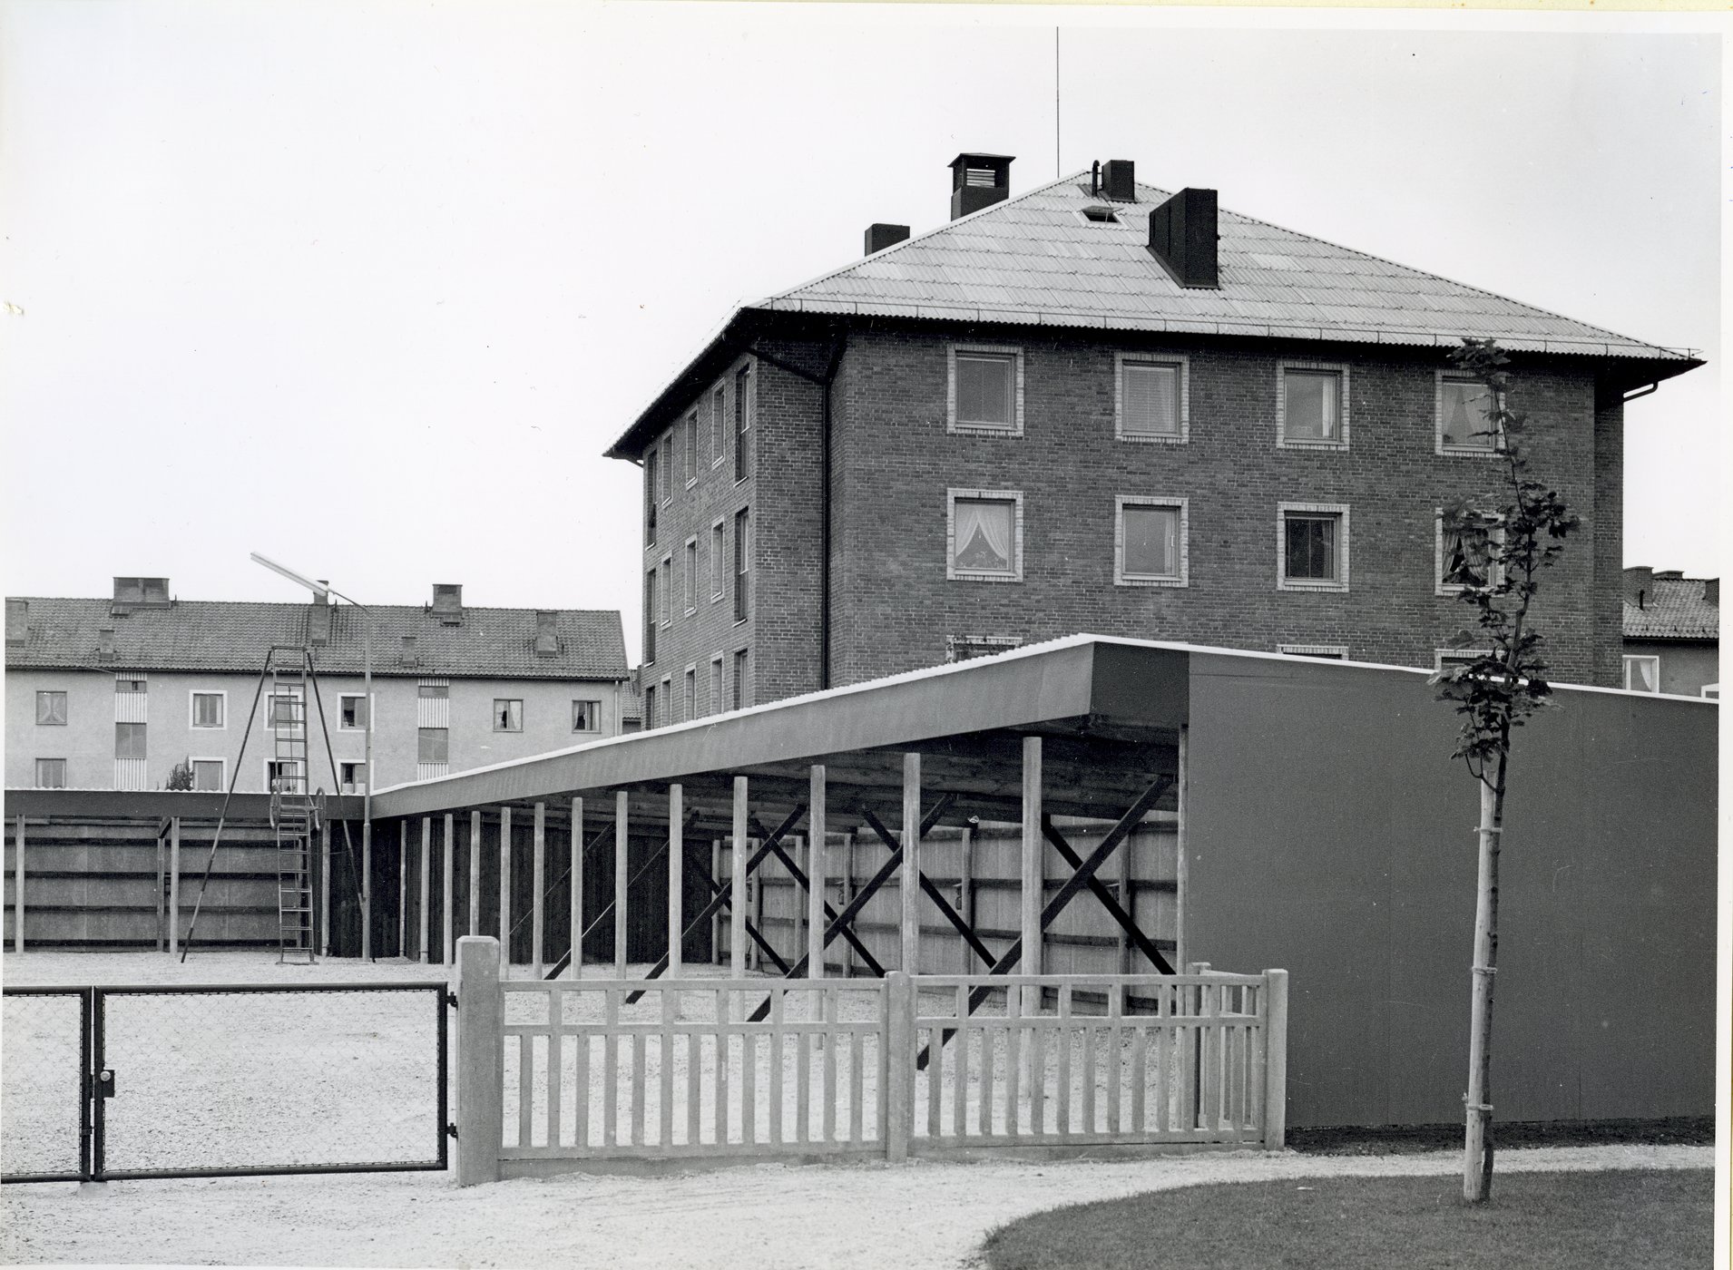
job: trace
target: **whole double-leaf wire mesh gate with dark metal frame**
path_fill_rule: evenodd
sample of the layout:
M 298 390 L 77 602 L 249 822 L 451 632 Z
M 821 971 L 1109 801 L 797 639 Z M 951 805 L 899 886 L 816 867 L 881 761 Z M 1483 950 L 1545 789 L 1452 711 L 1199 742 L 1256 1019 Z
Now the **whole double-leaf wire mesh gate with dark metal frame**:
M 442 982 L 12 988 L 0 1182 L 447 1163 Z

